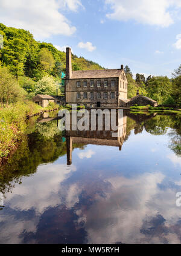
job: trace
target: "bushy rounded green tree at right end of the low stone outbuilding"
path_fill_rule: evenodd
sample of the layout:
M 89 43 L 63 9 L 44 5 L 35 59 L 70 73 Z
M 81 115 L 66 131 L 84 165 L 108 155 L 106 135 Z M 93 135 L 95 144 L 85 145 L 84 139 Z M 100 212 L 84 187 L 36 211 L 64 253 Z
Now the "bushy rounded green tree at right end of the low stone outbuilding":
M 172 83 L 167 76 L 154 76 L 147 84 L 148 97 L 158 101 L 159 104 L 164 103 L 172 89 Z

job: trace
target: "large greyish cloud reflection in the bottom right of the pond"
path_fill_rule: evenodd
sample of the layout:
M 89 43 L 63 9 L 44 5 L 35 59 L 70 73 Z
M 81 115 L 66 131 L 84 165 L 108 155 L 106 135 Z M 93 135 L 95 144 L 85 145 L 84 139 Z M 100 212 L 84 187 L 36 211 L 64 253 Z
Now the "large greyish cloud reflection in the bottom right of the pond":
M 106 197 L 98 196 L 97 201 L 86 212 L 77 212 L 80 218 L 86 220 L 88 243 L 180 241 L 179 234 L 173 227 L 180 216 L 180 209 L 175 204 L 175 192 L 171 189 L 161 190 L 157 186 L 164 178 L 162 173 L 147 173 L 131 179 L 107 179 L 112 184 L 112 192 L 107 192 Z M 159 216 L 160 220 L 166 221 L 157 223 Z M 150 227 L 147 232 L 144 224 L 147 220 L 150 225 L 153 224 L 151 233 Z

